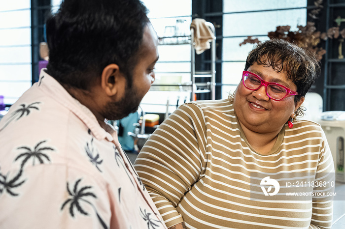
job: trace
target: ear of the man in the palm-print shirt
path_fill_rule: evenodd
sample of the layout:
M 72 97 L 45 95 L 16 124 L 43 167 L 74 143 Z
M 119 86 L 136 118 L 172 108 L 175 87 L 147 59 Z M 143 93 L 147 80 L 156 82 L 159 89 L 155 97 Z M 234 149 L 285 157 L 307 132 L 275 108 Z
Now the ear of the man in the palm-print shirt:
M 118 93 L 118 90 L 123 89 L 126 84 L 126 79 L 117 64 L 107 65 L 102 72 L 101 86 L 108 96 L 113 96 Z

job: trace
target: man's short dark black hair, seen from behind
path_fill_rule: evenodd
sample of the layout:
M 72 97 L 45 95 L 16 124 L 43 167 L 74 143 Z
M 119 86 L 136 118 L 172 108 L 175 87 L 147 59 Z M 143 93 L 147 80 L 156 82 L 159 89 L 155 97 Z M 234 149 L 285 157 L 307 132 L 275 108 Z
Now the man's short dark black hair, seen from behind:
M 139 0 L 64 0 L 46 23 L 47 72 L 60 84 L 89 90 L 111 63 L 132 86 L 147 9 Z

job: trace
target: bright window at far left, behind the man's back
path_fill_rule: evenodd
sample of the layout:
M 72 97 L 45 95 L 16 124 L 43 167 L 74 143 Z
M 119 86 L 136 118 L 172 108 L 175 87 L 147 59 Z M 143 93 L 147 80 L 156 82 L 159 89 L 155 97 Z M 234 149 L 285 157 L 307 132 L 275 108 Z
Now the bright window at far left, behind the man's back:
M 0 1 L 0 94 L 13 104 L 32 85 L 30 1 Z

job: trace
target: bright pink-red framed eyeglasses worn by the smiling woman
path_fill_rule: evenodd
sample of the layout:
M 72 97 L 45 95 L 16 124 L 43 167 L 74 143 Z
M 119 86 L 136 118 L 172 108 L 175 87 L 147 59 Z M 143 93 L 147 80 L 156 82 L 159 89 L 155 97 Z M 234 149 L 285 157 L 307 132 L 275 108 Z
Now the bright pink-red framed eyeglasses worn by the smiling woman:
M 264 81 L 260 76 L 248 71 L 243 71 L 242 81 L 249 90 L 257 90 L 261 86 L 265 86 L 267 96 L 276 101 L 282 100 L 286 96 L 300 95 L 286 86 Z

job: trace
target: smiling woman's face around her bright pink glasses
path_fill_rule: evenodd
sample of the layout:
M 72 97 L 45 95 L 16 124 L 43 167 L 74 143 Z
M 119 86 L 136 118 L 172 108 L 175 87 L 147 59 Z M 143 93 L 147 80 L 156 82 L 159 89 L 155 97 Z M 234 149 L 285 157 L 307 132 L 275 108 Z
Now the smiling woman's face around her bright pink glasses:
M 259 75 L 267 82 L 275 82 L 297 90 L 297 86 L 287 78 L 286 72 L 276 72 L 272 67 L 265 67 L 256 62 L 247 71 Z M 295 104 L 295 96 L 287 96 L 280 101 L 270 99 L 266 87 L 252 91 L 243 86 L 237 86 L 234 97 L 234 109 L 242 128 L 258 133 L 280 131 L 290 116 L 301 106 L 304 98 Z

